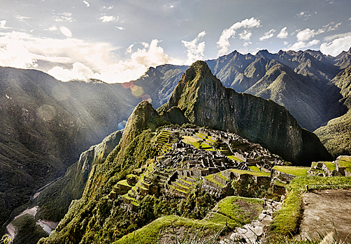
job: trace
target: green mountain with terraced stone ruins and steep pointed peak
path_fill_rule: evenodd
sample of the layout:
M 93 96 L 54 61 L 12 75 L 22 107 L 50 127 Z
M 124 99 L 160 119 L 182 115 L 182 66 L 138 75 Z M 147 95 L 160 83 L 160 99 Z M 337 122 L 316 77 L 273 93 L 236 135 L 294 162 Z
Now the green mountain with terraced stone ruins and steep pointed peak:
M 187 123 L 180 127 L 171 125 L 173 121 L 193 125 Z M 196 128 L 196 125 L 210 129 Z M 221 210 L 208 213 L 224 195 L 252 196 L 259 194 L 258 187 L 264 192 L 271 183 L 270 173 L 237 169 L 243 162 L 238 159 L 234 162 L 222 155 L 229 156 L 229 149 L 221 148 L 219 153 L 212 146 L 209 151 L 200 148 L 200 138 L 203 145 L 212 142 L 214 146 L 218 138 L 229 136 L 229 132 L 211 128 L 236 133 L 230 134 L 236 142 L 229 139 L 228 148 L 229 145 L 239 146 L 240 151 L 257 148 L 257 144 L 239 137 L 246 135 L 256 143 L 270 139 L 273 146 L 268 146 L 276 151 L 285 148 L 287 153 L 283 158 L 293 158 L 295 162 L 305 162 L 299 153 L 309 160 L 317 160 L 321 155 L 323 160 L 330 159 L 317 137 L 301 129 L 287 109 L 271 100 L 224 88 L 205 62 L 196 61 L 182 75 L 169 102 L 157 111 L 147 100 L 136 106 L 118 146 L 106 160 L 94 163 L 82 198 L 72 201 L 57 229 L 38 243 L 127 243 L 127 238 L 132 238 L 127 234 L 157 218 L 159 224 L 151 224 L 148 231 L 142 232 L 143 240 L 155 242 L 157 235 L 164 234 L 164 227 L 178 229 L 180 224 L 185 231 L 191 227 L 222 228 L 226 222 L 229 228 L 247 223 L 247 220 L 226 218 Z M 182 142 L 178 141 L 181 138 Z M 198 148 L 185 146 L 185 139 Z M 178 146 L 180 149 L 176 150 Z M 298 153 L 295 155 L 289 148 Z M 261 150 L 271 155 L 272 162 L 277 162 L 278 156 L 264 148 Z M 206 157 L 213 160 L 205 162 Z M 216 163 L 217 158 L 222 160 Z M 228 185 L 231 177 L 234 183 Z M 224 201 L 226 209 L 231 209 L 232 203 L 228 199 Z

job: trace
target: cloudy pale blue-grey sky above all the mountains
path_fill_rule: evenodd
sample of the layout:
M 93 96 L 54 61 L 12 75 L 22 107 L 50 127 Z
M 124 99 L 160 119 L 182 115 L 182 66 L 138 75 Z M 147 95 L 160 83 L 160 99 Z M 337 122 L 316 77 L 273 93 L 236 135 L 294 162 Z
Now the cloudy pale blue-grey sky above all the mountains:
M 0 66 L 129 82 L 234 50 L 351 47 L 350 0 L 0 0 Z

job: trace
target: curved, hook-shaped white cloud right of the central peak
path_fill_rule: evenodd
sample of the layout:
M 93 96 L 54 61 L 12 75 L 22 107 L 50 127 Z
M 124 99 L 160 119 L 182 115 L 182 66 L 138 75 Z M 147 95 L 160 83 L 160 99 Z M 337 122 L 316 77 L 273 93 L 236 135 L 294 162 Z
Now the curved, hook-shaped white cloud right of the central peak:
M 222 31 L 222 35 L 220 36 L 220 40 L 217 42 L 217 47 L 220 48 L 220 51 L 218 51 L 218 56 L 227 54 L 228 48 L 230 47 L 229 38 L 234 38 L 237 29 L 259 27 L 260 24 L 260 20 L 256 20 L 254 17 L 252 17 L 241 22 L 236 22 L 230 26 L 229 29 L 224 29 Z

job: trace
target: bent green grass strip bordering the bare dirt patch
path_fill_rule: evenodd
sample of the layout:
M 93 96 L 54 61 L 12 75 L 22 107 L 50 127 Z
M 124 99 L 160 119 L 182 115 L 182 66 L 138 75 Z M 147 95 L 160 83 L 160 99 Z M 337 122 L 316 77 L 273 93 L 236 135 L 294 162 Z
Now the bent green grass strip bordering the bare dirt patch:
M 275 212 L 271 229 L 280 235 L 294 234 L 301 219 L 301 195 L 306 185 L 320 185 L 323 189 L 351 188 L 351 177 L 299 176 L 287 185 L 287 199 L 282 208 Z M 319 188 L 319 187 L 314 187 Z

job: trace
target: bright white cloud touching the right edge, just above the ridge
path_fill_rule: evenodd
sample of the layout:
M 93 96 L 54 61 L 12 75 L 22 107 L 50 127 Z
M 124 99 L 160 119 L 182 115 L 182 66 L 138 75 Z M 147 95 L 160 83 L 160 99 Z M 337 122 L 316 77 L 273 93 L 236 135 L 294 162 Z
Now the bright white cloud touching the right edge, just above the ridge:
M 320 52 L 326 55 L 337 56 L 343 51 L 348 51 L 350 49 L 351 43 L 351 33 L 348 33 L 348 36 L 343 36 L 336 38 L 329 43 L 322 43 L 320 45 Z

